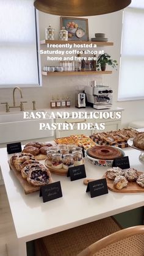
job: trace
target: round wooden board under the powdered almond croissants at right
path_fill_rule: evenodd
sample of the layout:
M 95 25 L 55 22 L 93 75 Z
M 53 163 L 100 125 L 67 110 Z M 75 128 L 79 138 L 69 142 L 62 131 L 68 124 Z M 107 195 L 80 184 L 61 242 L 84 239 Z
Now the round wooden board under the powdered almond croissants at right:
M 139 172 L 139 174 L 143 174 L 143 172 Z M 103 178 L 106 178 L 107 180 L 107 187 L 113 191 L 118 193 L 137 193 L 137 192 L 144 192 L 144 188 L 139 186 L 135 181 L 129 182 L 128 186 L 126 188 L 123 188 L 121 190 L 115 189 L 113 187 L 113 180 L 109 180 L 109 178 L 106 177 L 106 174 L 103 175 Z

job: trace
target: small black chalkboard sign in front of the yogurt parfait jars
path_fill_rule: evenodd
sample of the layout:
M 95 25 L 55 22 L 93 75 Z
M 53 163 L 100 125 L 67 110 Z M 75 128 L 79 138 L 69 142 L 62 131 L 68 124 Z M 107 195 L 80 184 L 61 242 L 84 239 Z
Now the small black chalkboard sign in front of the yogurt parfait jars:
M 87 177 L 85 174 L 85 166 L 82 164 L 81 166 L 74 166 L 68 168 L 67 177 L 71 178 L 71 181 L 79 180 L 81 178 Z

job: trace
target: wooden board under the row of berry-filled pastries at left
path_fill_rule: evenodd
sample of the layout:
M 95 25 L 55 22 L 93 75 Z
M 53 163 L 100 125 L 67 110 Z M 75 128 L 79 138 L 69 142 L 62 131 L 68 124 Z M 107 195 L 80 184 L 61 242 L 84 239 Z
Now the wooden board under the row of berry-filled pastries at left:
M 15 174 L 15 177 L 18 179 L 18 181 L 20 182 L 21 186 L 23 187 L 24 189 L 24 193 L 27 195 L 27 194 L 31 194 L 35 191 L 39 191 L 40 190 L 40 187 L 34 187 L 32 186 L 31 184 L 29 184 L 27 182 L 26 179 L 24 179 L 22 176 L 21 176 L 21 172 L 19 172 L 18 170 L 15 169 L 14 166 L 12 166 L 12 164 L 10 164 L 10 161 L 8 161 L 9 163 L 9 166 L 10 166 L 10 170 L 12 170 L 13 174 Z M 49 180 L 49 183 L 52 183 L 52 178 L 50 178 Z

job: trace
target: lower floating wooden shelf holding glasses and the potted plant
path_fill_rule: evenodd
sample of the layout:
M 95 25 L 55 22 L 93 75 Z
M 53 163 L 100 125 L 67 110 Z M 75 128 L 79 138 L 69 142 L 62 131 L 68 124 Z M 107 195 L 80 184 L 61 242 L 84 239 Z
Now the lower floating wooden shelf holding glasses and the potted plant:
M 43 76 L 85 76 L 85 75 L 109 75 L 112 71 L 63 71 L 63 72 L 41 72 Z

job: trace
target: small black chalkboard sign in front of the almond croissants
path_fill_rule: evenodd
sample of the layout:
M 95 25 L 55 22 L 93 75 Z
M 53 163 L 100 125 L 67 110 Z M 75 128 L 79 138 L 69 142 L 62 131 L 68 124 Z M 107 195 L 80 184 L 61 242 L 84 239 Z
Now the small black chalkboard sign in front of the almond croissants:
M 104 194 L 108 194 L 106 178 L 101 178 L 101 180 L 94 180 L 88 182 L 86 192 L 89 191 L 91 197 L 98 197 Z

